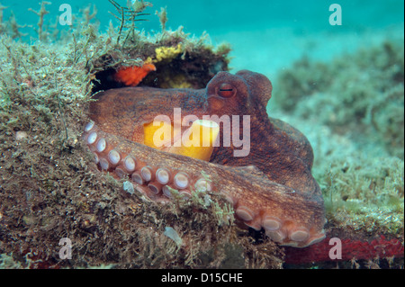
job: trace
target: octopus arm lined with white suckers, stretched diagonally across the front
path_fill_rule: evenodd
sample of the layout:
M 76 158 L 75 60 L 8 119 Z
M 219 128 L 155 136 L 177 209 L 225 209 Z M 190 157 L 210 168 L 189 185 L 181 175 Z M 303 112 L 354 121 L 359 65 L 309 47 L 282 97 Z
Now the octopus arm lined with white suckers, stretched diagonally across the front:
M 232 168 L 169 154 L 100 130 L 85 128 L 85 141 L 98 165 L 156 202 L 170 202 L 170 188 L 185 197 L 193 192 L 220 193 L 232 204 L 239 222 L 282 245 L 306 247 L 325 238 L 323 202 L 283 184 L 257 176 L 257 169 Z M 252 169 L 250 167 L 250 169 Z

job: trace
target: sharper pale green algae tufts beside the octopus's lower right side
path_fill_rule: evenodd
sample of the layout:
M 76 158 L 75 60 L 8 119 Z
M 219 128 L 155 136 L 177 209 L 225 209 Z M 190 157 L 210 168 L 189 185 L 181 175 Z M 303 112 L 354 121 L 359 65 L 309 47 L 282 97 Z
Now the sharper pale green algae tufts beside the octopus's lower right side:
M 320 175 L 329 220 L 370 234 L 403 234 L 404 163 L 397 157 L 352 157 Z

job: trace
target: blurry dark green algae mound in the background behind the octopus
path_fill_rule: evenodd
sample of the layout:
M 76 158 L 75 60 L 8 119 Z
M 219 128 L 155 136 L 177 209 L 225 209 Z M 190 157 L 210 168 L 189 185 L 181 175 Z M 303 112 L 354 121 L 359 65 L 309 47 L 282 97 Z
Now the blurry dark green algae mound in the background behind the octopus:
M 403 157 L 403 55 L 403 40 L 386 40 L 330 63 L 302 58 L 276 79 L 275 104 L 359 145 Z

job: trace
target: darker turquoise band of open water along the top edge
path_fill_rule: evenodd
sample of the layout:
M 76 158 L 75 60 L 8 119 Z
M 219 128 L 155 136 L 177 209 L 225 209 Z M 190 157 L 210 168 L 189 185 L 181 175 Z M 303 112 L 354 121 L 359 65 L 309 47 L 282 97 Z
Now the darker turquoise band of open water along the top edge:
M 39 0 L 14 1 L 3 0 L 4 6 L 14 11 L 21 23 L 35 24 L 37 17 L 28 12 L 28 8 L 38 10 Z M 60 4 L 70 4 L 73 13 L 88 4 L 96 4 L 98 19 L 102 26 L 107 25 L 113 11 L 112 4 L 107 0 L 53 0 L 47 6 L 49 19 L 54 19 Z M 125 0 L 118 0 L 124 5 Z M 404 2 L 401 0 L 311 0 L 311 1 L 216 1 L 216 0 L 150 0 L 153 7 L 148 13 L 155 13 L 160 7 L 167 7 L 168 26 L 176 28 L 179 25 L 187 31 L 200 34 L 202 31 L 216 33 L 217 31 L 257 30 L 258 28 L 293 27 L 297 32 L 302 31 L 333 31 L 329 19 L 329 4 L 337 3 L 342 6 L 343 25 L 339 31 L 362 31 L 370 28 L 382 28 L 392 24 L 403 23 Z M 7 14 L 6 14 L 7 16 Z M 158 29 L 157 18 L 149 17 L 149 22 L 142 23 L 146 30 Z

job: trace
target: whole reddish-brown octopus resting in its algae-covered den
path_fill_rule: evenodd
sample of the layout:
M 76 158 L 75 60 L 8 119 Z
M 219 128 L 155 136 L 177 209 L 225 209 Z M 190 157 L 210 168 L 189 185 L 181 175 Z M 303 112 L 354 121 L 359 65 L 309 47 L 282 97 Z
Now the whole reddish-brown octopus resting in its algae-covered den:
M 203 89 L 135 86 L 102 91 L 90 103 L 85 144 L 100 170 L 127 178 L 151 201 L 171 202 L 175 191 L 185 199 L 201 191 L 220 193 L 239 225 L 264 230 L 282 246 L 308 247 L 325 238 L 326 221 L 320 186 L 311 175 L 313 151 L 299 130 L 268 116 L 271 94 L 270 80 L 247 70 L 219 72 Z M 175 109 L 181 109 L 181 119 L 176 119 Z M 166 146 L 151 147 L 146 144 L 148 127 L 157 116 L 171 121 L 172 144 L 190 129 L 191 121 L 203 116 L 218 124 L 222 139 L 240 139 L 248 128 L 248 152 L 235 156 L 240 144 L 225 140 L 204 159 L 172 153 Z M 232 118 L 239 122 L 227 129 L 222 116 L 239 116 Z M 249 121 L 240 124 L 246 116 Z M 182 125 L 174 130 L 180 120 Z

